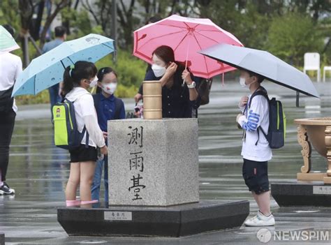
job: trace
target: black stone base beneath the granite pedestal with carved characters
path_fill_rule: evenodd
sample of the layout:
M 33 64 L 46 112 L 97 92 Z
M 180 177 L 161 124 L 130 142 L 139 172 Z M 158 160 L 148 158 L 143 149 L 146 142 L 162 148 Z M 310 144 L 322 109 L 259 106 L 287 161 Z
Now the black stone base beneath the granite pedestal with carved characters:
M 248 215 L 248 201 L 57 209 L 57 220 L 73 236 L 182 237 L 240 227 Z

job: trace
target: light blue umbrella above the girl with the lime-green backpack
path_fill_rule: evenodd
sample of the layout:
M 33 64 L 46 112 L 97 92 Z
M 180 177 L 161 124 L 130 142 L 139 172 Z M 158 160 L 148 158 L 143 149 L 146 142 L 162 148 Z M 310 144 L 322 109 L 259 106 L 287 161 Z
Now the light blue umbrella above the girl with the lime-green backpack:
M 97 34 L 61 43 L 31 61 L 17 77 L 12 96 L 38 94 L 61 82 L 67 66 L 76 61 L 94 63 L 112 52 L 115 52 L 114 40 Z

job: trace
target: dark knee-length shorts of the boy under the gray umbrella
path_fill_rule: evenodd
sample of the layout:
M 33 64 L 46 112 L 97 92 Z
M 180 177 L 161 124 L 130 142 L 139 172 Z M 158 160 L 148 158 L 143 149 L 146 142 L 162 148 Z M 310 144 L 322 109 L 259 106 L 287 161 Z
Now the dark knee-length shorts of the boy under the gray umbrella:
M 242 177 L 249 191 L 256 194 L 269 191 L 269 179 L 267 177 L 267 161 L 257 162 L 244 159 L 242 165 Z

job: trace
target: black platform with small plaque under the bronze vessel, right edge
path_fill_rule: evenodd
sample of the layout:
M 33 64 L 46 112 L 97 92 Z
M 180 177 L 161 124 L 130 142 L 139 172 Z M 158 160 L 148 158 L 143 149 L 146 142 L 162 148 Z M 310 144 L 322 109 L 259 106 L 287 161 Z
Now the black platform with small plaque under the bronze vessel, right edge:
M 280 207 L 331 207 L 331 185 L 321 182 L 271 184 L 271 195 Z

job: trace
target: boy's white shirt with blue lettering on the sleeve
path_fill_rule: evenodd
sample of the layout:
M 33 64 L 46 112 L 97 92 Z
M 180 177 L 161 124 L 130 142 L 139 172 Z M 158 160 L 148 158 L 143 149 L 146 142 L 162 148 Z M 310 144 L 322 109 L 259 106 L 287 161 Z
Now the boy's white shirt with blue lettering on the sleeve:
M 251 95 L 249 96 L 250 100 Z M 269 161 L 272 158 L 272 150 L 262 131 L 260 131 L 258 138 L 258 126 L 265 133 L 269 128 L 269 103 L 262 95 L 253 97 L 251 107 L 249 107 L 249 101 L 244 115 L 238 119 L 238 123 L 246 131 L 246 137 L 242 141 L 242 157 L 251 161 Z M 240 107 L 240 110 L 244 112 L 244 107 Z

